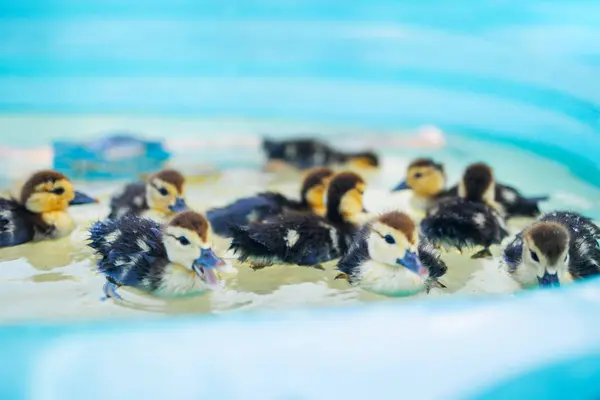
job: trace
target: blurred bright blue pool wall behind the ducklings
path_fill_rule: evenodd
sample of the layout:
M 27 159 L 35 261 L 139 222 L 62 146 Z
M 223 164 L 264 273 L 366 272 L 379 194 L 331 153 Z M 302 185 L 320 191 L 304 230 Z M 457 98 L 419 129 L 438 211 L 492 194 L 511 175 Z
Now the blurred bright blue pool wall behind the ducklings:
M 5 0 L 0 16 L 0 112 L 431 123 L 600 182 L 595 1 Z

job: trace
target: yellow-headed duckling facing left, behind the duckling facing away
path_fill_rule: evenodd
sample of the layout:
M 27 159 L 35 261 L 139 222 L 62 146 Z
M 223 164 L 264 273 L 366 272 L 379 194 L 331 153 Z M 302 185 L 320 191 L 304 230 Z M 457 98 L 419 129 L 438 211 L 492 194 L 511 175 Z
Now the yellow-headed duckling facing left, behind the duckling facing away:
M 458 185 L 445 190 L 446 175 L 442 164 L 430 158 L 413 161 L 406 174 L 406 180 L 399 183 L 393 191 L 412 189 L 414 207 L 426 211 L 437 201 L 445 197 L 458 196 Z M 505 218 L 537 218 L 540 215 L 539 203 L 547 201 L 549 196 L 525 197 L 517 189 L 496 182 L 494 201 Z

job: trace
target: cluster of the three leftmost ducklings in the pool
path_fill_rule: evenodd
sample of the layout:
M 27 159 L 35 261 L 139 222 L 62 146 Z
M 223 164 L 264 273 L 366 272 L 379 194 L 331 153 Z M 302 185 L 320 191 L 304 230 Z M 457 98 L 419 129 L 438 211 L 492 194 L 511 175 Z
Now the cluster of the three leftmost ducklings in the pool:
M 226 263 L 211 248 L 206 218 L 188 210 L 184 190 L 181 173 L 157 172 L 127 185 L 112 198 L 107 219 L 89 228 L 107 297 L 120 298 L 123 285 L 176 295 L 217 283 L 215 269 Z M 75 228 L 69 206 L 95 202 L 63 174 L 37 172 L 18 199 L 0 199 L 0 247 L 68 236 Z

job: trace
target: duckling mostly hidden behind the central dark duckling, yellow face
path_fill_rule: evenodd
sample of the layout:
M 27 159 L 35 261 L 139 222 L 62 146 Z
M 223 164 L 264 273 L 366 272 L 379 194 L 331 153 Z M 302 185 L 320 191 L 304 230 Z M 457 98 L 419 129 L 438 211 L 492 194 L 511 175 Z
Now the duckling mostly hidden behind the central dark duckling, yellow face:
M 206 212 L 213 231 L 224 237 L 231 236 L 231 226 L 246 225 L 280 215 L 286 211 L 312 212 L 325 215 L 325 189 L 333 171 L 317 167 L 310 171 L 300 189 L 300 201 L 274 192 L 239 199 L 228 206 Z

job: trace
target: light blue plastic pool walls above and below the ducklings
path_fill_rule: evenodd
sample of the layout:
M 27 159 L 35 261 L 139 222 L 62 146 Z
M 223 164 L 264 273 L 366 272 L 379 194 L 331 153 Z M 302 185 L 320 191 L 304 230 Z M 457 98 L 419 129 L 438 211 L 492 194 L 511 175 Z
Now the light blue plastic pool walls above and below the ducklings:
M 2 145 L 84 135 L 24 128 L 39 115 L 435 124 L 600 186 L 597 2 L 8 0 L 0 15 Z M 4 325 L 0 397 L 593 399 L 599 313 L 594 280 L 489 301 Z

